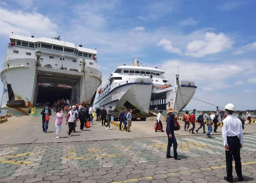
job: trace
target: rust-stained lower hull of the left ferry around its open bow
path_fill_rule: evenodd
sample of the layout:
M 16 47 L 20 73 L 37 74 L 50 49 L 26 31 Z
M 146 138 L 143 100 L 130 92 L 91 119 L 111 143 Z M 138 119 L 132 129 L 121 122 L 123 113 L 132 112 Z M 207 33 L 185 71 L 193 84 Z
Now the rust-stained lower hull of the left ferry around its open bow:
M 36 66 L 32 58 L 19 58 L 6 61 L 3 68 L 1 80 L 6 82 L 6 92 L 1 107 L 11 111 L 12 115 L 28 115 L 32 106 L 50 102 L 49 98 L 53 100 L 51 92 L 54 93 L 55 89 L 61 94 L 61 91 L 67 91 L 64 90 L 67 87 L 70 87 L 69 100 L 76 99 L 76 102 L 90 104 L 101 84 L 101 72 L 92 67 L 86 67 L 85 72 L 66 71 Z M 44 102 L 39 100 L 40 92 L 46 92 Z

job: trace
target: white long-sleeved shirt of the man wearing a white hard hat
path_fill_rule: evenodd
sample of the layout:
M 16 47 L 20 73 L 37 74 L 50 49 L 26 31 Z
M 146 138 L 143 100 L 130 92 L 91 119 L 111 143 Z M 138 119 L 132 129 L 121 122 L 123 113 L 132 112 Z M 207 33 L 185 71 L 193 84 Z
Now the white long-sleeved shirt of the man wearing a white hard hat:
M 242 122 L 233 115 L 228 115 L 227 118 L 223 119 L 222 139 L 224 146 L 228 145 L 227 136 L 238 136 L 240 144 L 244 143 Z

